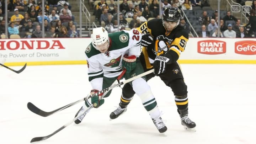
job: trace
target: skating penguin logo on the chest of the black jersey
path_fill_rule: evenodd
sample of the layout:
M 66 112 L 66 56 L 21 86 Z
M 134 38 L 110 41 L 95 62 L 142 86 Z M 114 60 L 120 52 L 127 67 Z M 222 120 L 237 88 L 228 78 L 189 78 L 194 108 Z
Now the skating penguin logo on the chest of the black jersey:
M 172 41 L 173 40 L 168 39 L 163 35 L 158 36 L 155 41 L 155 49 L 153 49 L 155 55 L 160 55 L 167 52 L 171 46 Z

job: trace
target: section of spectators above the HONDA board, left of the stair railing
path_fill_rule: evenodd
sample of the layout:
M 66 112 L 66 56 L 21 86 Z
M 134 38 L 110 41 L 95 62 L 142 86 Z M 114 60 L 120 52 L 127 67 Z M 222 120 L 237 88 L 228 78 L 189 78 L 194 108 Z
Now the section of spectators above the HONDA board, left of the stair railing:
M 5 37 L 5 1 L 0 1 L 0 33 Z M 42 0 L 7 0 L 7 36 L 20 38 L 74 38 L 79 37 L 75 17 L 67 0 L 45 0 L 44 21 Z

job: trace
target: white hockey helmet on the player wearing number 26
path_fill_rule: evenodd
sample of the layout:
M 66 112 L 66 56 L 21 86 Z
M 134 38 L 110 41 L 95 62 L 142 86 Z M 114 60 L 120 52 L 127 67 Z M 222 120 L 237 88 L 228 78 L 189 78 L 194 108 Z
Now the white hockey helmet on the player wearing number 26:
M 103 27 L 94 28 L 91 34 L 91 41 L 92 45 L 96 48 L 96 46 L 108 41 L 108 32 Z

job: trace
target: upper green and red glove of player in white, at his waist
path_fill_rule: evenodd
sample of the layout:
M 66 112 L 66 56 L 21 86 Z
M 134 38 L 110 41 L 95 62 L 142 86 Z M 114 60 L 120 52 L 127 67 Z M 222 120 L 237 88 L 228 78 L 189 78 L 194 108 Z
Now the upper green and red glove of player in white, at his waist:
M 136 68 L 136 56 L 135 55 L 124 55 L 122 66 L 126 68 L 126 73 L 130 73 L 133 69 Z

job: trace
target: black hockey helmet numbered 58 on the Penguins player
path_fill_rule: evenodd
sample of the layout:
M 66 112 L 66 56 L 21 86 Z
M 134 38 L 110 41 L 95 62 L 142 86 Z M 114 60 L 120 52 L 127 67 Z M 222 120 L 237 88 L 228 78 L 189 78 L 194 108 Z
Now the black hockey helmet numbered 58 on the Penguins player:
M 178 22 L 181 17 L 180 9 L 174 6 L 168 6 L 163 12 L 163 20 L 167 22 Z

